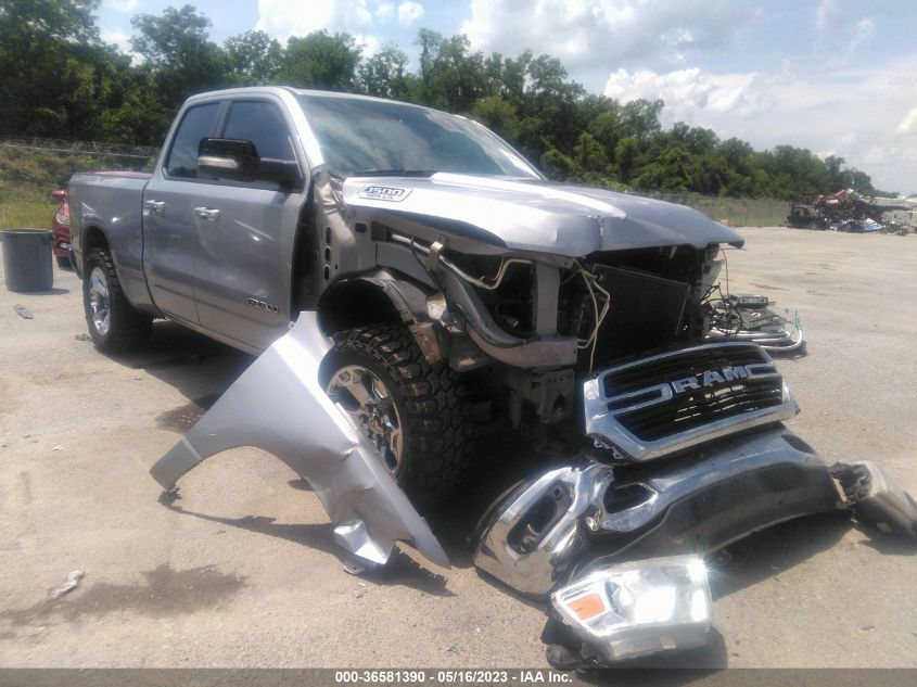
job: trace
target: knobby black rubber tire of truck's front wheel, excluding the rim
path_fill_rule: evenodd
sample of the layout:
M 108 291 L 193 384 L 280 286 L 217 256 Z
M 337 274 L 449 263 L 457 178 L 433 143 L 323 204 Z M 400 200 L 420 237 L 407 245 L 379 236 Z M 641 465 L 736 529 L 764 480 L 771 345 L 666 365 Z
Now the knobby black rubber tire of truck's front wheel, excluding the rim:
M 398 481 L 413 504 L 429 509 L 450 495 L 466 476 L 476 434 L 461 376 L 443 361 L 429 362 L 405 325 L 343 331 L 334 344 L 335 353 L 372 359 L 398 386 L 393 393 L 403 398 L 406 430 Z

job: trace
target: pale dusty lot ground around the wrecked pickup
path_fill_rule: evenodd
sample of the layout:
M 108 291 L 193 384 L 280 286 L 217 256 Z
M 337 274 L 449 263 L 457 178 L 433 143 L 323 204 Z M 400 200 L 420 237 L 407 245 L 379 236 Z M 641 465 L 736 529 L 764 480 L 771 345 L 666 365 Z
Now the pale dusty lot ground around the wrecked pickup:
M 917 237 L 742 233 L 733 291 L 806 325 L 810 355 L 780 362 L 790 424 L 917 493 Z M 408 549 L 381 576 L 346 574 L 317 499 L 266 454 L 215 457 L 160 502 L 147 470 L 251 358 L 165 322 L 143 355 L 105 357 L 76 277 L 54 287 L 0 291 L 0 665 L 546 665 L 540 612 L 455 547 L 451 570 Z M 917 547 L 827 516 L 731 552 L 704 661 L 917 666 Z M 75 570 L 79 588 L 49 600 Z

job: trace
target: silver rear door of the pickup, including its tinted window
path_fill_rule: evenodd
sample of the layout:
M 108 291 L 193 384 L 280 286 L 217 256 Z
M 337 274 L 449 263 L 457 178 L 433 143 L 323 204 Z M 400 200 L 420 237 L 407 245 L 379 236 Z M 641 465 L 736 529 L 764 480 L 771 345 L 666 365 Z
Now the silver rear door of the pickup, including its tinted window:
M 198 175 L 198 145 L 213 136 L 219 107 L 209 102 L 184 111 L 163 168 L 143 191 L 143 271 L 150 294 L 165 315 L 191 325 L 199 322 L 194 196 L 205 186 Z

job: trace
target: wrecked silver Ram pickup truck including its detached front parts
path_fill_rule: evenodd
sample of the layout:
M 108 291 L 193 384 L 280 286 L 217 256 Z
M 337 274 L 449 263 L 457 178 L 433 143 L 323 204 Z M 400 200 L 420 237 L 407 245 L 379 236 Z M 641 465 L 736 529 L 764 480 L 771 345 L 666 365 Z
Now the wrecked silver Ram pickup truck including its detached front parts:
M 914 534 L 913 499 L 874 466 L 829 468 L 781 424 L 797 405 L 765 351 L 711 339 L 739 234 L 552 183 L 475 122 L 204 93 L 152 175 L 80 174 L 69 193 L 99 348 L 166 317 L 259 356 L 153 467 L 166 488 L 257 446 L 311 483 L 358 567 L 396 542 L 448 564 L 420 513 L 502 460 L 474 456 L 479 430 L 553 446 L 472 542 L 479 569 L 549 599 L 558 664 L 703 644 L 700 557 L 770 524 L 852 506 Z

